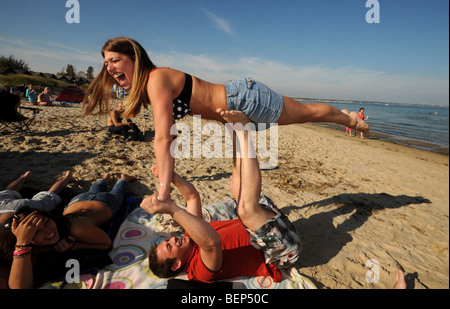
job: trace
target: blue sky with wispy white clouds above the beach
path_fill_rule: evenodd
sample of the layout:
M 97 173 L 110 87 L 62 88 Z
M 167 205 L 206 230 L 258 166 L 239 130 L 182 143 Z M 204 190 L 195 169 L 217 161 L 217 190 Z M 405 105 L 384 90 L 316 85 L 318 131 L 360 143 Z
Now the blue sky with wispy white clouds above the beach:
M 449 105 L 449 1 L 6 0 L 0 55 L 34 71 L 103 63 L 112 37 L 138 40 L 158 66 L 214 83 L 251 76 L 293 97 Z

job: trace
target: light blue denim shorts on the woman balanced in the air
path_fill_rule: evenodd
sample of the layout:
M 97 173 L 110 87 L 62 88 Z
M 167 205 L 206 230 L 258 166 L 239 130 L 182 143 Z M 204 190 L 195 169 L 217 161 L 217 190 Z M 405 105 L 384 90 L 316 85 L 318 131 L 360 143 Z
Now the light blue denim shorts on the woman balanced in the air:
M 283 111 L 283 96 L 249 77 L 225 83 L 228 110 L 243 112 L 258 129 L 277 123 Z

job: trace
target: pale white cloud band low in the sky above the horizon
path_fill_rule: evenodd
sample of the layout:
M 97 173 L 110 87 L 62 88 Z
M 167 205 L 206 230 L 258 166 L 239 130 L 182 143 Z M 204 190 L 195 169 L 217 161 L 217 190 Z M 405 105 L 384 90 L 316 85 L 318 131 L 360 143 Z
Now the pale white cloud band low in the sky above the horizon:
M 77 70 L 93 66 L 99 71 L 100 53 L 52 42 L 24 42 L 0 36 L 1 53 L 14 55 L 34 71 L 56 73 L 67 64 Z M 150 51 L 149 51 L 150 52 Z M 449 78 L 420 74 L 391 74 L 362 68 L 293 66 L 261 57 L 150 52 L 158 66 L 168 66 L 206 81 L 222 84 L 230 79 L 252 77 L 290 97 L 351 99 L 396 103 L 449 105 Z

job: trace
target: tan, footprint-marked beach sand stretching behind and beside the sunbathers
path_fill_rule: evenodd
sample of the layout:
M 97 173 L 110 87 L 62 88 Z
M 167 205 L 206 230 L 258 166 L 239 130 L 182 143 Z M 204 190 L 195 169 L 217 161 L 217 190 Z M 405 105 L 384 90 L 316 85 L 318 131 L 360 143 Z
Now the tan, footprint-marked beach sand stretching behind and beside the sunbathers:
M 79 105 L 41 109 L 33 134 L 0 136 L 1 188 L 31 170 L 28 186 L 48 189 L 71 170 L 75 191 L 125 172 L 139 179 L 129 189 L 135 195 L 154 193 L 151 112 L 146 141 L 125 143 L 107 132 L 106 118 L 81 117 Z M 141 129 L 143 114 L 134 119 Z M 416 289 L 448 289 L 449 157 L 344 132 L 278 127 L 278 168 L 262 171 L 264 193 L 302 238 L 299 271 L 318 288 L 384 289 L 403 267 Z M 176 161 L 205 205 L 231 197 L 231 166 L 230 158 Z M 177 191 L 172 197 L 182 203 Z

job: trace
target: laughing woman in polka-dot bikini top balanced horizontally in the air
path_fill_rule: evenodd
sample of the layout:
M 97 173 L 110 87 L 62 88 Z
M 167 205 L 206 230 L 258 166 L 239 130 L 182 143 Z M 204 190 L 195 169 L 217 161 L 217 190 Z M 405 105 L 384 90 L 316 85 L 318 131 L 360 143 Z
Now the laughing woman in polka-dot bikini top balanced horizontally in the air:
M 212 84 L 171 68 L 157 68 L 144 48 L 135 40 L 115 38 L 102 48 L 104 66 L 89 86 L 83 107 L 85 114 L 98 108 L 109 110 L 109 90 L 114 83 L 129 90 L 124 118 L 153 107 L 155 119 L 154 150 L 159 169 L 158 188 L 162 200 L 170 198 L 174 158 L 170 153 L 175 120 L 186 115 L 201 115 L 224 122 L 221 111 L 242 111 L 255 124 L 288 125 L 305 122 L 332 122 L 362 132 L 369 126 L 356 113 L 340 111 L 329 104 L 305 104 L 282 96 L 251 79 Z M 89 104 L 85 105 L 87 98 Z

